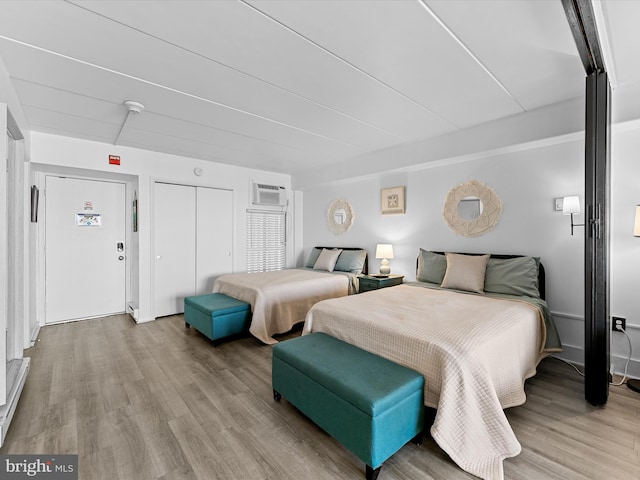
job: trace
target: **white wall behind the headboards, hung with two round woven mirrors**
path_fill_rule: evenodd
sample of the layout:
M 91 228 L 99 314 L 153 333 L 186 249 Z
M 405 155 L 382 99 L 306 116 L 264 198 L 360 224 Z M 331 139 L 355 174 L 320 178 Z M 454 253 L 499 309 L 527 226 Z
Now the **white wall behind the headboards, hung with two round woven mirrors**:
M 625 165 L 618 158 L 620 150 L 629 153 L 625 161 L 632 165 Z M 639 151 L 640 135 L 629 133 L 624 142 L 617 144 L 613 164 L 611 313 L 627 316 L 630 323 L 634 317 L 640 317 L 640 303 L 633 301 L 637 298 L 633 292 L 640 288 L 640 269 L 634 268 L 638 262 L 633 261 L 640 259 L 640 238 L 629 235 L 634 206 L 640 203 L 640 192 L 632 187 L 640 174 L 640 162 L 631 152 Z M 394 152 L 388 152 L 389 165 L 393 165 L 393 159 Z M 627 187 L 618 185 L 620 177 Z M 445 224 L 442 207 L 450 188 L 471 179 L 491 187 L 502 200 L 503 210 L 493 231 L 465 238 Z M 393 186 L 406 187 L 406 214 L 382 216 L 380 189 Z M 622 190 L 629 198 L 621 198 Z M 554 211 L 553 199 L 566 195 L 579 195 L 584 205 L 584 139 L 575 136 L 552 145 L 488 154 L 449 166 L 310 187 L 304 195 L 304 251 L 298 261 L 302 263 L 314 245 L 362 246 L 369 252 L 371 271 L 376 271 L 379 267 L 379 260 L 373 258 L 376 243 L 392 243 L 395 254 L 392 272 L 413 280 L 419 248 L 539 256 L 546 269 L 547 301 L 564 345 L 560 356 L 583 363 L 584 228 L 576 228 L 571 236 L 569 217 Z M 355 213 L 352 229 L 341 236 L 331 234 L 325 220 L 329 204 L 338 198 L 348 200 Z M 583 215 L 576 216 L 575 222 L 583 223 Z M 629 249 L 637 242 L 636 253 L 629 252 L 630 258 L 621 258 L 623 241 Z M 626 295 L 624 301 L 621 295 Z M 612 353 L 615 369 L 620 372 L 618 357 L 625 356 L 628 347 L 619 341 L 618 335 L 614 335 Z M 640 376 L 637 360 L 640 338 L 634 339 L 634 346 L 636 360 L 629 371 Z

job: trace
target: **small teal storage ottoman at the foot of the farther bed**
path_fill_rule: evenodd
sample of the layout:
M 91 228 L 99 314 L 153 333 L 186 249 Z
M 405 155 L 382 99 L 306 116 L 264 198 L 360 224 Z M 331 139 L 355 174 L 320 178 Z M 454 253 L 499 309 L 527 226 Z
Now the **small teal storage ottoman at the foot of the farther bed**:
M 215 342 L 249 330 L 251 305 L 223 293 L 186 297 L 184 323 Z

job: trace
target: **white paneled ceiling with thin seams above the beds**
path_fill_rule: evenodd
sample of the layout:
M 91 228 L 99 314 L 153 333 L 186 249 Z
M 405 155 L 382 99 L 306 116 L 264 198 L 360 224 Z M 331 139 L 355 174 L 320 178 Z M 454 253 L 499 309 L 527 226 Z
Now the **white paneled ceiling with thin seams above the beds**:
M 636 83 L 640 2 L 596 7 L 612 79 Z M 34 131 L 113 144 L 133 100 L 118 145 L 290 174 L 585 77 L 560 0 L 2 1 L 0 57 Z

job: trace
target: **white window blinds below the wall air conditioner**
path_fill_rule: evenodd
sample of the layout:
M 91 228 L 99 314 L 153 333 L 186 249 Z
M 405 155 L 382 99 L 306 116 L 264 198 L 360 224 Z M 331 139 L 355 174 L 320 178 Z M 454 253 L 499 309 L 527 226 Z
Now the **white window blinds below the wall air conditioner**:
M 282 270 L 286 263 L 286 213 L 247 210 L 247 271 Z

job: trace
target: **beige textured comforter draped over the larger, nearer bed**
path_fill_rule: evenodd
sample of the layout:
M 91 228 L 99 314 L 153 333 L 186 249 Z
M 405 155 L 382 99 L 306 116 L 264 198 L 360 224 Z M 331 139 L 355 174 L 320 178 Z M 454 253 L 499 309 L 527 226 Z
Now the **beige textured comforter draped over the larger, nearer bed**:
M 504 297 L 404 284 L 316 304 L 303 335 L 325 332 L 422 373 L 434 440 L 464 470 L 502 479 L 503 460 L 520 452 L 503 409 L 524 403 L 525 379 L 560 347 L 544 308 Z

